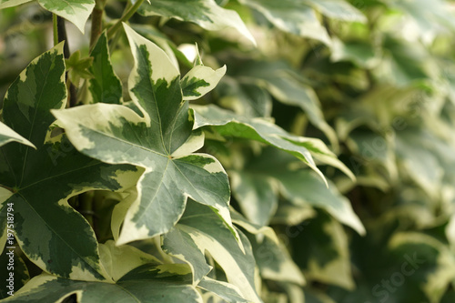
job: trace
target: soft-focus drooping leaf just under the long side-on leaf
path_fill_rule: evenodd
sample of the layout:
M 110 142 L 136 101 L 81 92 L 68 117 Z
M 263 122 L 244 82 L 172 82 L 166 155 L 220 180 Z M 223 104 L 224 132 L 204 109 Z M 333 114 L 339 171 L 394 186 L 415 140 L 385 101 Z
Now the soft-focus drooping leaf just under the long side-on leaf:
M 326 187 L 310 170 L 292 169 L 293 160 L 285 153 L 267 148 L 260 157 L 249 160 L 242 170 L 234 171 L 232 190 L 245 217 L 267 224 L 277 207 L 279 192 L 295 206 L 326 209 L 343 224 L 364 234 L 365 228 L 349 200 L 341 196 L 331 182 L 329 188 Z

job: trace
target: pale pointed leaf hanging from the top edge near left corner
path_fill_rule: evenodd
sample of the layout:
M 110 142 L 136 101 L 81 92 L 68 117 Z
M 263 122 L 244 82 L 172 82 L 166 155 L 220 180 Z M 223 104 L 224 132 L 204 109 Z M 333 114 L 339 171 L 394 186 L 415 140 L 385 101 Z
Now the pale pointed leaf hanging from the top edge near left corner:
M 84 34 L 86 20 L 92 14 L 95 0 L 37 0 L 45 10 L 70 21 Z

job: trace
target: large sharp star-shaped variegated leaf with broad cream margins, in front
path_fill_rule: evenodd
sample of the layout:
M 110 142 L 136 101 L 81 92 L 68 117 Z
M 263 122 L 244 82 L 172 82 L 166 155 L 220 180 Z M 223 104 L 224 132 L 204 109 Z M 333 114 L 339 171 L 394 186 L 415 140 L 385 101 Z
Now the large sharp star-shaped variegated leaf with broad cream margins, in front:
M 214 157 L 192 154 L 204 138 L 192 132 L 177 68 L 157 45 L 125 28 L 135 57 L 129 90 L 142 116 L 126 106 L 107 104 L 54 112 L 84 154 L 146 169 L 117 243 L 167 232 L 183 214 L 187 197 L 212 207 L 231 226 L 223 167 Z

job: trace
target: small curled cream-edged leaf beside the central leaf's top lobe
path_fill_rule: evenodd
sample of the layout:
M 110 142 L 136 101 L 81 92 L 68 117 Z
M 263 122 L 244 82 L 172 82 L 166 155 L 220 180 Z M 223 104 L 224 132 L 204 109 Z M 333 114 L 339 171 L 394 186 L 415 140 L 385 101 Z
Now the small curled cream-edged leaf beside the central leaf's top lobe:
M 213 70 L 207 66 L 195 66 L 181 80 L 184 100 L 196 100 L 206 95 L 226 73 L 226 66 Z

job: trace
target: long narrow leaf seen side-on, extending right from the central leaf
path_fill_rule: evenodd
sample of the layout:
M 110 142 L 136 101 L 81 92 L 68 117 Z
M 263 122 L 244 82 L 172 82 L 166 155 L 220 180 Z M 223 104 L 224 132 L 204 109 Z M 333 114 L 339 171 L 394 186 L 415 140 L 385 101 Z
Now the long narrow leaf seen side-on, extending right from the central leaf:
M 247 138 L 269 146 L 275 146 L 294 157 L 298 157 L 308 167 L 314 169 L 324 180 L 325 177 L 319 171 L 319 168 L 316 167 L 312 156 L 317 157 L 322 163 L 338 167 L 349 177 L 355 179 L 349 169 L 319 139 L 293 136 L 268 120 L 239 116 L 213 105 L 191 106 L 191 109 L 195 117 L 193 126 L 195 129 L 203 126 L 214 126 L 222 136 Z

